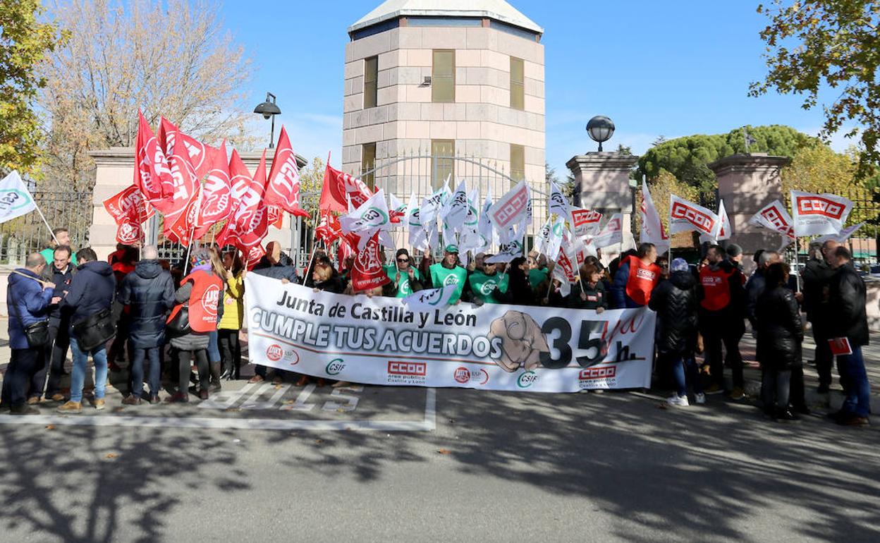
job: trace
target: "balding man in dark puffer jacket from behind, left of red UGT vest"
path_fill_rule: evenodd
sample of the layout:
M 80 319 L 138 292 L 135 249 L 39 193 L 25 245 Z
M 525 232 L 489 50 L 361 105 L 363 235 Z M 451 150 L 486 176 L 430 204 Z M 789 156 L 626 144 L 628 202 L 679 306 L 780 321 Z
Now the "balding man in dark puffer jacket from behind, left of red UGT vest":
M 136 406 L 143 394 L 143 363 L 147 363 L 150 404 L 159 402 L 159 352 L 165 346 L 165 315 L 174 306 L 174 281 L 162 269 L 156 246 L 143 247 L 142 260 L 122 280 L 120 301 L 131 317 L 128 341 L 134 350 L 131 359 L 131 389 L 122 403 Z

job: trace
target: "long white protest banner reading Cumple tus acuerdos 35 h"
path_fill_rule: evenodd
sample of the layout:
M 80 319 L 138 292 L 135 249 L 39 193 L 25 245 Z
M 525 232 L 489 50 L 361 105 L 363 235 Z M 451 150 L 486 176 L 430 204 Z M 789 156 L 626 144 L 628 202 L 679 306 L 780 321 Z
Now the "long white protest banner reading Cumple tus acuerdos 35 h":
M 574 393 L 650 385 L 656 314 L 422 309 L 246 275 L 252 363 L 372 385 Z

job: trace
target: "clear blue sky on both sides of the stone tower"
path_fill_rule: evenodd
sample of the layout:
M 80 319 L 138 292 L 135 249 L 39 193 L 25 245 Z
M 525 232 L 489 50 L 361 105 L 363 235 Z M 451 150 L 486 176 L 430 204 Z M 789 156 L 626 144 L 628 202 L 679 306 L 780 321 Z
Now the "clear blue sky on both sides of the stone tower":
M 378 4 L 224 4 L 225 26 L 255 62 L 247 106 L 274 92 L 297 153 L 326 158 L 333 150 L 339 165 L 346 28 Z M 617 126 L 608 147 L 623 143 L 636 154 L 660 135 L 723 133 L 746 124 L 786 124 L 815 135 L 822 125 L 821 109 L 804 111 L 797 97 L 746 95 L 748 84 L 766 73 L 758 35 L 766 18 L 755 11 L 757 2 L 510 4 L 545 29 L 547 161 L 559 172 L 568 158 L 596 150 L 584 130 L 595 114 Z M 255 126 L 268 140 L 268 121 Z M 832 139 L 835 149 L 847 144 Z

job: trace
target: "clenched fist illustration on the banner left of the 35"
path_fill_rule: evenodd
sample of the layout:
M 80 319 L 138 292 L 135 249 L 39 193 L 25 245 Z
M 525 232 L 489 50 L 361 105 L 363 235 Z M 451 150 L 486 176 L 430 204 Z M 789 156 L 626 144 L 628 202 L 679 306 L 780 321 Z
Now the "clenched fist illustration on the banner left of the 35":
M 501 338 L 502 354 L 495 363 L 511 373 L 520 366 L 527 371 L 534 370 L 540 364 L 541 352 L 550 352 L 541 327 L 524 312 L 509 311 L 501 319 L 493 320 L 489 341 L 496 337 Z

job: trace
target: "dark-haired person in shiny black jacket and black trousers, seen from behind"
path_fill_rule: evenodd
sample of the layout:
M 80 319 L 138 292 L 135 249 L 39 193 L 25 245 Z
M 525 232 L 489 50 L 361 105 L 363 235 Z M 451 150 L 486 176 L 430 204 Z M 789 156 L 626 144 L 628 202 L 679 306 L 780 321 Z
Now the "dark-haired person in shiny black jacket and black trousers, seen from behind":
M 758 361 L 763 371 L 761 397 L 766 415 L 792 421 L 797 415 L 788 407 L 789 392 L 798 386 L 803 389 L 803 372 L 799 373 L 800 383 L 796 383 L 796 377 L 792 375 L 793 370 L 801 367 L 801 313 L 795 293 L 785 286 L 788 284 L 788 264 L 771 264 L 766 268 L 765 278 L 766 288 L 758 297 L 755 308 Z

